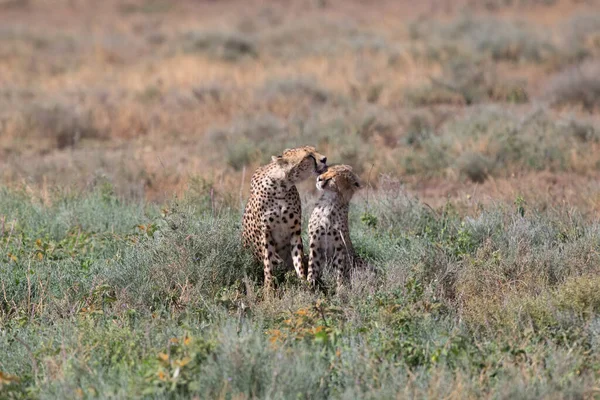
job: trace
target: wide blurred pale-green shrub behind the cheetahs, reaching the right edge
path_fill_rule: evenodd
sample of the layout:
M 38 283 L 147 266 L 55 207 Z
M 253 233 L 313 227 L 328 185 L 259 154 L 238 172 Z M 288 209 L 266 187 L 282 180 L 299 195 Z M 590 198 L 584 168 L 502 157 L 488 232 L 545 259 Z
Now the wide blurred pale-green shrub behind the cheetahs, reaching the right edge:
M 584 143 L 593 143 L 595 132 L 594 125 L 555 120 L 544 110 L 521 116 L 484 107 L 426 136 L 416 151 L 406 150 L 403 163 L 409 173 L 442 173 L 457 168 L 467 176 L 471 171 L 475 179 L 481 179 L 483 171 L 505 174 L 514 168 L 576 170 L 579 162 L 572 155 L 587 157 Z M 593 164 L 595 159 L 586 162 Z

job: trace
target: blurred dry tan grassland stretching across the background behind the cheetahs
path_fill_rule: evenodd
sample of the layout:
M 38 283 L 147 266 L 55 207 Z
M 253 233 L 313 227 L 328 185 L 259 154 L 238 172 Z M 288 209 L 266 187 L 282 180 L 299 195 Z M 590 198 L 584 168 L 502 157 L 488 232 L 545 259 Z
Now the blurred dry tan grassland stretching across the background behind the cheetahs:
M 365 179 L 416 174 L 406 181 L 426 197 L 421 188 L 436 185 L 447 196 L 442 170 L 451 193 L 490 176 L 516 191 L 535 172 L 500 172 L 481 138 L 453 145 L 449 169 L 426 157 L 411 172 L 406 158 L 475 103 L 520 103 L 522 115 L 550 100 L 556 121 L 580 118 L 583 103 L 589 114 L 589 95 L 573 90 L 593 85 L 569 78 L 579 67 L 555 74 L 598 54 L 597 21 L 593 5 L 568 0 L 14 2 L 0 15 L 0 179 L 85 186 L 104 175 L 123 194 L 160 200 L 201 177 L 238 192 L 244 169 L 306 142 Z M 262 116 L 279 121 L 280 141 L 249 133 Z M 569 173 L 595 179 L 595 157 L 561 151 Z

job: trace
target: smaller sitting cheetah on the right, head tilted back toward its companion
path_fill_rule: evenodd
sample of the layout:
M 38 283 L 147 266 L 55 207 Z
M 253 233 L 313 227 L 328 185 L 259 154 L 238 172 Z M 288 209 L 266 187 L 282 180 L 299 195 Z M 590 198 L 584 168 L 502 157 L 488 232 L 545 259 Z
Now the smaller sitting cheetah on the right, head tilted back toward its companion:
M 364 264 L 354 253 L 348 230 L 348 207 L 360 188 L 358 176 L 348 165 L 331 166 L 317 178 L 317 189 L 322 194 L 308 225 L 308 281 L 312 285 L 328 263 L 336 268 L 338 285 L 349 278 L 351 266 Z

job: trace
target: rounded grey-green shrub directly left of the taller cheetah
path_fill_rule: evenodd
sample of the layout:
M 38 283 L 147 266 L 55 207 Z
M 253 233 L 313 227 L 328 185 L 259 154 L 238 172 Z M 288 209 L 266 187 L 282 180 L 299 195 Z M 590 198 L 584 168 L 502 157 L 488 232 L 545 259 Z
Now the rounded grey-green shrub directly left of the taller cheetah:
M 119 266 L 107 271 L 107 283 L 135 304 L 168 309 L 198 306 L 201 299 L 214 298 L 247 276 L 260 276 L 241 251 L 239 215 L 216 219 L 202 212 L 190 219 L 193 212 L 170 211 L 156 222 L 152 234 L 140 238 Z

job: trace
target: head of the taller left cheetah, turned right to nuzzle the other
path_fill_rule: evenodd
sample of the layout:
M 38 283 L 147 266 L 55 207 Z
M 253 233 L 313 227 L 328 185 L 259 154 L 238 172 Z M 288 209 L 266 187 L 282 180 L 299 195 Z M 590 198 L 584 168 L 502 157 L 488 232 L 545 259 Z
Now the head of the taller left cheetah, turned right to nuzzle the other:
M 327 157 L 318 153 L 312 146 L 286 149 L 282 155 L 273 156 L 273 162 L 293 183 L 301 182 L 313 174 L 318 175 L 327 170 Z

